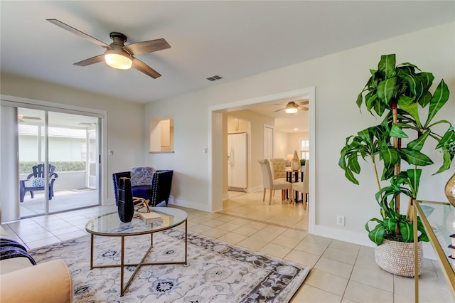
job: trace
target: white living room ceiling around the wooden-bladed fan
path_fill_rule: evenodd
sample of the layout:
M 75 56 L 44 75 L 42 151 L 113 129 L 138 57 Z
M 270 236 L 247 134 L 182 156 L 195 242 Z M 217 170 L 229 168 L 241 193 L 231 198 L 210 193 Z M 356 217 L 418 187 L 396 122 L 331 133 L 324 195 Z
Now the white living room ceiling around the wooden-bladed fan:
M 0 1 L 0 11 L 2 73 L 146 103 L 448 23 L 455 1 Z M 165 38 L 170 49 L 137 56 L 161 78 L 73 65 L 104 48 L 46 18 L 107 44 L 111 31 L 127 44 Z

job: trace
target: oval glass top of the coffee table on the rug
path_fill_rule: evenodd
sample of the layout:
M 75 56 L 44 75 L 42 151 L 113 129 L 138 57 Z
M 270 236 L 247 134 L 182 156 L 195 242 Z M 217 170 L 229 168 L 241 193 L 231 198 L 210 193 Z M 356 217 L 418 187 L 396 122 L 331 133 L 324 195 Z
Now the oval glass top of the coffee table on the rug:
M 85 230 L 94 235 L 143 235 L 173 228 L 188 218 L 188 213 L 178 208 L 151 207 L 150 211 L 159 213 L 161 219 L 153 223 L 145 223 L 144 220 L 137 217 L 133 218 L 131 222 L 124 223 L 120 220 L 118 213 L 107 213 L 90 219 L 85 225 Z M 137 215 L 139 213 L 134 214 Z

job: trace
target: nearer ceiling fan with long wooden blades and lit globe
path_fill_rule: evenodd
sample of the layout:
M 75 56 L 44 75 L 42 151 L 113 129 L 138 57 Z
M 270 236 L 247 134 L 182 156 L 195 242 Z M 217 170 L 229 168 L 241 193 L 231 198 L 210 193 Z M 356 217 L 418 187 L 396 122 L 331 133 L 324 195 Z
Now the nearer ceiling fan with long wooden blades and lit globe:
M 46 19 L 50 23 L 60 26 L 61 28 L 74 33 L 77 36 L 87 39 L 88 41 L 95 43 L 97 46 L 106 48 L 105 53 L 102 55 L 96 55 L 95 57 L 82 60 L 80 62 L 74 63 L 78 66 L 87 66 L 94 63 L 99 63 L 105 61 L 107 65 L 112 68 L 117 68 L 119 70 L 127 70 L 131 67 L 136 68 L 142 73 L 149 75 L 151 78 L 158 78 L 161 76 L 156 70 L 151 68 L 149 65 L 146 65 L 141 60 L 134 58 L 134 55 L 140 55 L 142 53 L 152 53 L 157 50 L 164 50 L 166 48 L 171 48 L 169 44 L 164 40 L 164 38 L 142 41 L 138 43 L 128 44 L 127 46 L 124 43 L 127 41 L 127 36 L 123 33 L 112 32 L 109 36 L 112 39 L 112 43 L 106 44 L 97 38 L 82 33 L 76 28 L 69 26 L 57 19 Z

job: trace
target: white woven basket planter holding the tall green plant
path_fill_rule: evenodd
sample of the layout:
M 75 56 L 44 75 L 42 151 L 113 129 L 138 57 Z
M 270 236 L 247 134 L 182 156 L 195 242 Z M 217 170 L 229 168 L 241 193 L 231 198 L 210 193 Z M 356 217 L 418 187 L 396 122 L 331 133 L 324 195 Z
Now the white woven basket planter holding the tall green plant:
M 422 274 L 424 253 L 422 242 L 417 244 L 419 275 Z M 375 248 L 376 263 L 385 271 L 402 277 L 414 277 L 414 243 L 384 240 Z

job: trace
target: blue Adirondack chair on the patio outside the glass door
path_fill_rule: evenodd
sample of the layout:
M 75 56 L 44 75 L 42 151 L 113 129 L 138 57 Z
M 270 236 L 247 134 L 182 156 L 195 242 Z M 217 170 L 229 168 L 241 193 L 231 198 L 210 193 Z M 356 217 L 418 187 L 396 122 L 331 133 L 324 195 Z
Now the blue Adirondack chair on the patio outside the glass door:
M 30 191 L 31 198 L 34 198 L 34 191 L 44 191 L 45 169 L 44 164 L 33 166 L 33 173 L 27 176 L 27 179 L 19 180 L 20 198 L 23 198 L 27 191 Z M 54 196 L 54 182 L 58 178 L 55 173 L 55 165 L 49 164 L 49 200 Z

